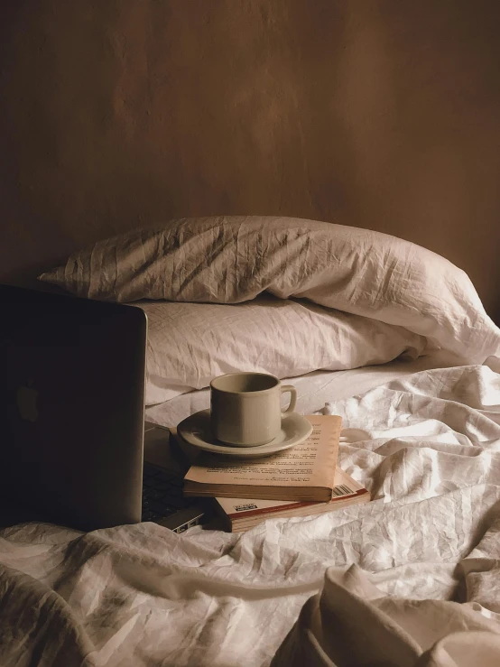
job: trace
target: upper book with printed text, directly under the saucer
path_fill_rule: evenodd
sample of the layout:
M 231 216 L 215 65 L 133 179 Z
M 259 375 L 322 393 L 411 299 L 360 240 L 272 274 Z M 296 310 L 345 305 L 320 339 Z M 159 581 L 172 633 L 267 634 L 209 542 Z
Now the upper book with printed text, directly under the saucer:
M 342 420 L 337 415 L 306 419 L 312 424 L 307 440 L 265 459 L 224 459 L 203 452 L 184 477 L 184 495 L 331 500 Z

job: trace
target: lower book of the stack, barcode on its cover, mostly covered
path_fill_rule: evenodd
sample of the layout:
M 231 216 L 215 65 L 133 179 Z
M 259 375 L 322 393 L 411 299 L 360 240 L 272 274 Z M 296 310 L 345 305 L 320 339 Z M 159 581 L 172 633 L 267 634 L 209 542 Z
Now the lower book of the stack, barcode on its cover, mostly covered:
M 293 500 L 249 500 L 245 498 L 216 498 L 216 508 L 224 528 L 230 533 L 242 533 L 265 519 L 290 516 L 314 516 L 370 500 L 364 486 L 337 468 L 333 497 L 326 503 L 296 502 Z

